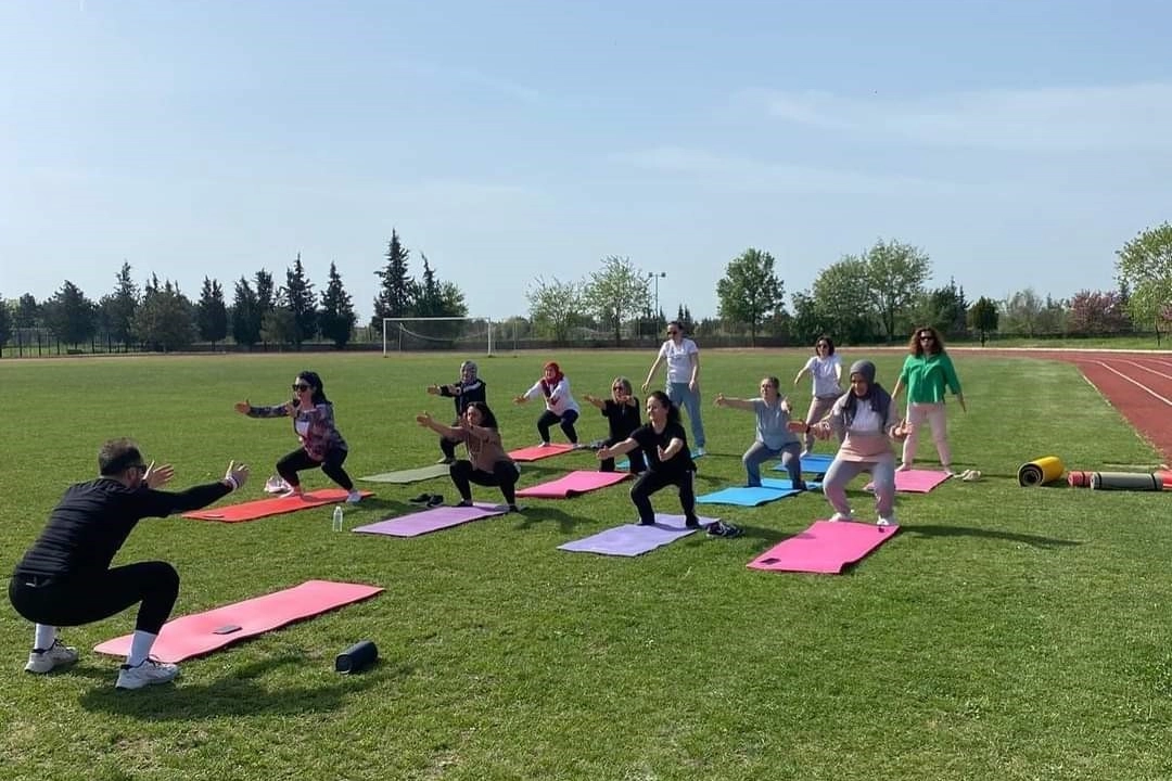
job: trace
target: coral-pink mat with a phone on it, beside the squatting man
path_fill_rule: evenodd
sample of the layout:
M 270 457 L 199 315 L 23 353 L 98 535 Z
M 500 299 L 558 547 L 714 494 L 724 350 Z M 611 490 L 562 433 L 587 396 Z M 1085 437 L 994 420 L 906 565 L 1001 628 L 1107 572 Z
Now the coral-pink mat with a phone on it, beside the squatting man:
M 183 662 L 294 621 L 367 600 L 382 590 L 377 585 L 361 583 L 306 581 L 284 591 L 172 618 L 163 624 L 163 631 L 151 648 L 151 656 L 172 664 Z M 130 652 L 130 637 L 123 635 L 105 640 L 94 646 L 94 651 L 125 656 Z

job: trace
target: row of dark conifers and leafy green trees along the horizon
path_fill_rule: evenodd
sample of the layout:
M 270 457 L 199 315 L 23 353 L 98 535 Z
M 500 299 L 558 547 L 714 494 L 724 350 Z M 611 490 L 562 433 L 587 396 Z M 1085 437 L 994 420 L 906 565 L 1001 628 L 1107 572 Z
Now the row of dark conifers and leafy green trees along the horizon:
M 422 274 L 410 273 L 410 251 L 397 231 L 387 244 L 370 327 L 381 331 L 384 317 L 465 317 L 464 294 L 455 282 L 438 278 L 421 253 Z M 857 255 L 844 255 L 823 268 L 810 288 L 790 296 L 777 261 L 750 247 L 728 262 L 717 282 L 717 316 L 695 322 L 679 303 L 674 318 L 701 336 L 758 336 L 772 342 L 811 343 L 833 334 L 847 344 L 898 342 L 919 326 L 933 326 L 952 337 L 993 334 L 1111 335 L 1154 331 L 1157 343 L 1172 328 L 1172 225 L 1142 231 L 1116 253 L 1112 290 L 1081 290 L 1069 300 L 1042 296 L 1031 288 L 1001 300 L 981 296 L 969 302 L 950 279 L 929 288 L 932 262 L 921 248 L 879 240 Z M 604 258 L 598 270 L 580 280 L 534 279 L 525 292 L 527 316 L 504 321 L 515 340 L 544 338 L 559 343 L 584 338 L 621 344 L 625 338 L 662 331 L 667 315 L 659 307 L 657 279 L 629 258 Z M 655 294 L 653 295 L 653 286 Z M 0 306 L 0 344 L 18 329 L 49 329 L 66 344 L 104 342 L 150 350 L 179 350 L 196 341 L 219 343 L 229 335 L 245 347 L 300 347 L 315 338 L 341 349 L 353 338 L 357 316 L 334 263 L 325 289 L 314 293 L 301 256 L 285 270 L 284 285 L 261 268 L 234 283 L 232 302 L 216 280 L 204 278 L 196 301 L 170 280 L 156 275 L 139 290 L 131 267 L 123 263 L 111 293 L 96 303 L 66 281 L 50 299 L 30 294 Z M 436 335 L 457 336 L 459 323 L 432 324 Z

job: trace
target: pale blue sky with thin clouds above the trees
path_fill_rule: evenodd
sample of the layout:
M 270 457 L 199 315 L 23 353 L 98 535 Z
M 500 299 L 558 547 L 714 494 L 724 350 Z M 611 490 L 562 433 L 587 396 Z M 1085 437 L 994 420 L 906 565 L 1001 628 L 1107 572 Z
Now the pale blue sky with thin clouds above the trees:
M 0 4 L 0 295 L 123 260 L 331 261 L 369 317 L 397 228 L 470 314 L 606 255 L 716 314 L 747 247 L 789 294 L 878 239 L 970 300 L 1115 287 L 1172 214 L 1172 4 Z

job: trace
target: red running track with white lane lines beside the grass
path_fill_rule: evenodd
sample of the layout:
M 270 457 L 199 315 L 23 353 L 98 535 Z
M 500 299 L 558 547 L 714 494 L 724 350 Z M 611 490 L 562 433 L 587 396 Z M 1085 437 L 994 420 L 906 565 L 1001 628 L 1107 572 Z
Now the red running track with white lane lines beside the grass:
M 1172 352 L 1122 350 L 974 350 L 982 355 L 1067 361 L 1172 463 Z

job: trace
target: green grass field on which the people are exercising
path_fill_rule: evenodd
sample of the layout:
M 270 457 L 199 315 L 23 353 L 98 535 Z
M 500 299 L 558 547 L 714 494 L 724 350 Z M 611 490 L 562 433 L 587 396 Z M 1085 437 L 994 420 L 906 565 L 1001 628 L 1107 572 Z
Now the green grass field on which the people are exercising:
M 67 484 L 95 473 L 109 437 L 172 463 L 177 488 L 246 460 L 252 481 L 238 499 L 261 496 L 293 436 L 287 420 L 247 419 L 232 403 L 282 400 L 302 368 L 325 379 L 353 475 L 430 464 L 435 437 L 413 417 L 451 415 L 423 389 L 454 381 L 462 357 L 0 362 L 0 567 L 11 571 Z M 506 446 L 537 441 L 539 410 L 507 399 L 548 357 L 481 359 Z M 580 399 L 605 395 L 615 375 L 638 385 L 653 356 L 556 357 Z M 788 386 L 804 359 L 704 354 L 710 455 L 699 492 L 740 484 L 752 439 L 752 416 L 715 409 L 713 396 L 752 396 L 763 375 Z M 877 361 L 888 388 L 900 361 Z M 745 568 L 827 514 L 813 494 L 704 507 L 744 536 L 693 535 L 631 560 L 556 549 L 628 522 L 624 487 L 529 500 L 523 516 L 409 540 L 332 533 L 331 507 L 240 525 L 144 521 L 117 561 L 173 562 L 179 614 L 309 578 L 387 590 L 189 660 L 176 685 L 138 692 L 116 691 L 118 659 L 89 652 L 129 631 L 131 612 L 64 630 L 81 662 L 36 677 L 21 671 L 30 628 L 6 607 L 0 777 L 1172 777 L 1172 494 L 1026 489 L 1014 477 L 1036 455 L 1138 470 L 1154 451 L 1072 365 L 966 354 L 958 369 L 969 413 L 950 412 L 955 466 L 984 480 L 900 496 L 902 530 L 843 576 Z M 804 410 L 808 382 L 793 398 Z M 605 434 L 592 407 L 580 431 Z M 522 485 L 594 464 L 580 452 L 526 465 Z M 423 489 L 454 495 L 447 480 L 364 487 L 377 495 L 347 511 L 348 527 L 415 509 L 407 500 Z M 669 492 L 656 506 L 679 507 Z M 377 643 L 380 665 L 333 672 L 334 655 L 362 638 Z

